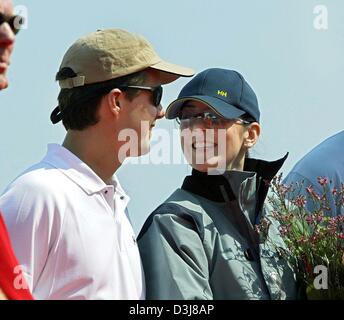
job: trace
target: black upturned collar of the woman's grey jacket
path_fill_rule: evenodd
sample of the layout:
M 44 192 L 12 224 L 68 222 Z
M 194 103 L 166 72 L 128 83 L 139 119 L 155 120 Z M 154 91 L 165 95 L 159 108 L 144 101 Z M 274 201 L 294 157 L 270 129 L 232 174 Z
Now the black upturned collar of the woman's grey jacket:
M 237 200 L 250 203 L 254 197 L 256 212 L 262 209 L 269 190 L 269 182 L 277 174 L 288 154 L 276 161 L 246 159 L 244 171 L 226 171 L 222 175 L 208 175 L 192 170 L 182 189 L 214 202 Z

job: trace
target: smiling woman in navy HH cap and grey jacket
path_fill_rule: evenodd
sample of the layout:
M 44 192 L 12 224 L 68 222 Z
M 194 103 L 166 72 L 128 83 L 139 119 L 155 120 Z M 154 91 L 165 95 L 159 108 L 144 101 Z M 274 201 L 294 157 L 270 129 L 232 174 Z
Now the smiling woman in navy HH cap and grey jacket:
M 166 110 L 192 166 L 139 235 L 148 299 L 293 299 L 295 278 L 264 205 L 285 158 L 248 159 L 260 134 L 255 93 L 241 74 L 208 69 Z M 255 226 L 272 222 L 266 241 Z M 265 220 L 266 221 L 266 220 Z

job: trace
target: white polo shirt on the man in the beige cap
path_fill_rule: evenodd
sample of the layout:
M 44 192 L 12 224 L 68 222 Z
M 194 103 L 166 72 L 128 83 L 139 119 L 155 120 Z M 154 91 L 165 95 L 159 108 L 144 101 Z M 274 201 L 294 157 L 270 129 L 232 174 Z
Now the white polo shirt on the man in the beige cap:
M 0 211 L 36 299 L 145 298 L 128 201 L 57 144 L 7 187 Z

